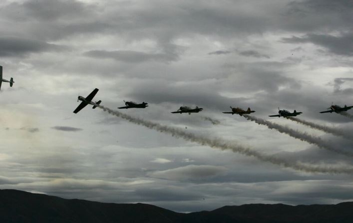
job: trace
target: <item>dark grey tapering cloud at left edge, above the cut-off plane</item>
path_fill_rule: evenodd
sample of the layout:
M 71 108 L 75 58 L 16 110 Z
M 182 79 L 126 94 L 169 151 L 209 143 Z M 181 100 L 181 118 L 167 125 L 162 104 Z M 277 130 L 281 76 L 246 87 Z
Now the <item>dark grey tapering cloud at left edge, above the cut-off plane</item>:
M 29 53 L 39 53 L 45 51 L 61 51 L 65 47 L 49 44 L 39 40 L 17 38 L 17 37 L 0 37 L 0 56 L 3 57 L 20 57 Z

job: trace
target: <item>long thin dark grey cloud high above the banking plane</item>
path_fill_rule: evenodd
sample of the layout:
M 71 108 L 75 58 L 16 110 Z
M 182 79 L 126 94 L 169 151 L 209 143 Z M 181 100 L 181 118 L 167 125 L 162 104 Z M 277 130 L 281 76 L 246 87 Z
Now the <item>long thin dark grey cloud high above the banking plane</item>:
M 131 50 L 115 50 L 115 51 L 106 51 L 106 50 L 91 50 L 85 52 L 84 55 L 95 57 L 95 58 L 111 58 L 128 63 L 140 63 L 149 60 L 155 60 L 160 62 L 170 62 L 176 61 L 178 55 L 171 53 L 145 53 L 139 51 Z

